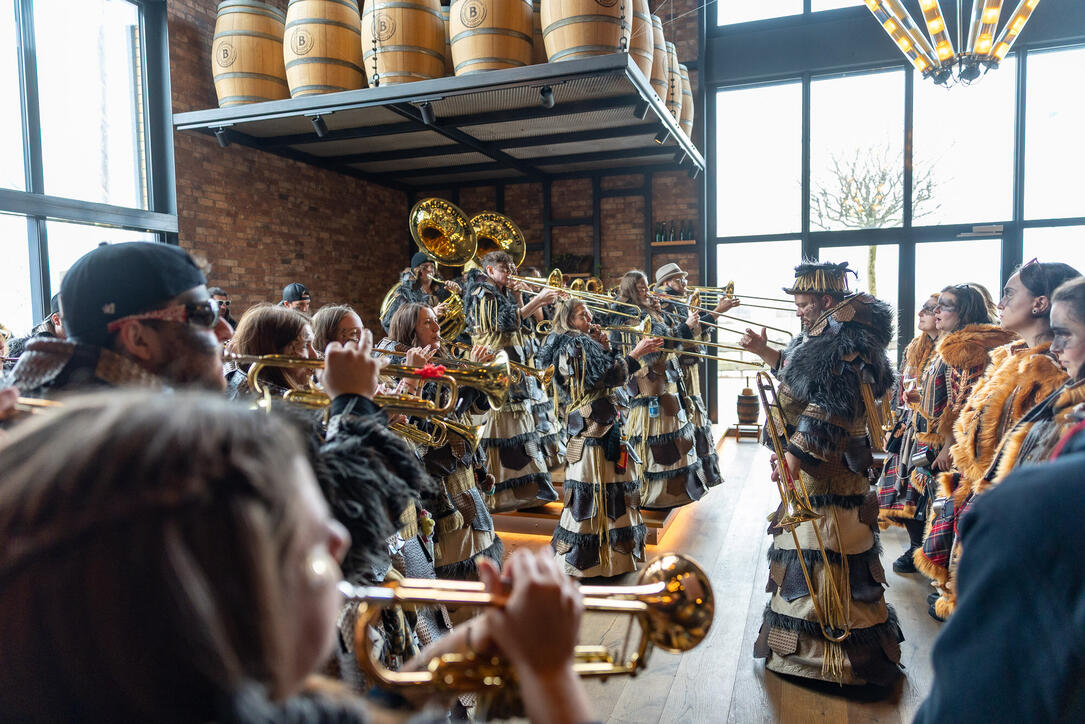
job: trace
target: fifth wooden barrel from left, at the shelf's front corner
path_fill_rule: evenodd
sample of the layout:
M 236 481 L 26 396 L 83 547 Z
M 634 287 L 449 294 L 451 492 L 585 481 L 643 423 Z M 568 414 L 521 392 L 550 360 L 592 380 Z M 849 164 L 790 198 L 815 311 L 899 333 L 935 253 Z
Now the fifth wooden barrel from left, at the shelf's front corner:
M 631 15 L 624 0 L 542 0 L 547 58 L 553 63 L 616 53 L 623 31 L 628 34 Z

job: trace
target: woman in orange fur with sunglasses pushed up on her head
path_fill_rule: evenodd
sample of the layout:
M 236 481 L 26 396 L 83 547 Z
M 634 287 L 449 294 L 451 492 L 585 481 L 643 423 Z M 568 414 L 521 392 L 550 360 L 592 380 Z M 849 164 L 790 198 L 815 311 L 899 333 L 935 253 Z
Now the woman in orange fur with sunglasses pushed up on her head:
M 954 546 L 942 595 L 934 601 L 939 618 L 945 619 L 956 606 L 961 516 L 991 482 L 991 466 L 1003 436 L 1067 381 L 1050 351 L 1051 294 L 1060 283 L 1078 276 L 1065 264 L 1033 262 L 1006 282 L 997 307 L 999 326 L 1019 339 L 992 351 L 991 364 L 954 423 L 953 470 L 939 475 L 939 488 L 942 495 L 953 496 L 954 510 Z

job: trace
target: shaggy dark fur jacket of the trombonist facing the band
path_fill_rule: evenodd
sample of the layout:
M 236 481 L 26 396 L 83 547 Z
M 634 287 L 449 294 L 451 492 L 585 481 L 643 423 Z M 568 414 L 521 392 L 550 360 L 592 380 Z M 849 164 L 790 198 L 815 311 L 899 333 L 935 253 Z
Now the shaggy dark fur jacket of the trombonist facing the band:
M 789 420 L 794 430 L 789 452 L 807 462 L 851 457 L 847 448 L 856 443 L 850 441 L 852 431 L 865 416 L 860 384 L 869 384 L 876 398 L 893 386 L 893 367 L 885 355 L 892 336 L 890 306 L 860 293 L 792 340 L 782 353 L 781 393 L 805 407 L 797 419 Z M 869 445 L 864 446 L 869 454 Z

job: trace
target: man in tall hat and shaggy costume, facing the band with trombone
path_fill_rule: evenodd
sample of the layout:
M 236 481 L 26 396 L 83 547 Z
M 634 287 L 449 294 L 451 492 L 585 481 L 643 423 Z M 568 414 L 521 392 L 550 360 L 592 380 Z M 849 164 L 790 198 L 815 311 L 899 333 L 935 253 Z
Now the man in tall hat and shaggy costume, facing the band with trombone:
M 769 524 L 773 597 L 754 656 L 782 674 L 884 686 L 899 675 L 903 636 L 884 599 L 869 435 L 881 434 L 875 401 L 893 385 L 885 355 L 893 312 L 869 294 L 850 292 L 848 271 L 846 263 L 795 267 L 795 282 L 783 291 L 795 297 L 803 332 L 787 348 L 773 350 L 753 330 L 742 338 L 743 347 L 761 356 L 780 380 L 788 442 L 786 459 L 775 460 L 775 477 L 787 466 L 805 484 L 819 516 L 794 531 L 826 619 L 819 621 L 815 611 L 794 537 L 780 526 L 788 511 L 781 506 Z M 850 634 L 833 643 L 822 635 L 822 625 Z

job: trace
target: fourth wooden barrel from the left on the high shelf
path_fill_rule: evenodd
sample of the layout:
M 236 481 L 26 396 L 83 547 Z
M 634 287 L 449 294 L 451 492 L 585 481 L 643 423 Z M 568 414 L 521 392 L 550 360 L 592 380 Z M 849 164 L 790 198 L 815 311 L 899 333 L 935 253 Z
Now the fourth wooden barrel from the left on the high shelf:
M 532 63 L 532 0 L 452 0 L 448 30 L 456 75 Z

